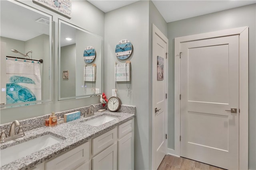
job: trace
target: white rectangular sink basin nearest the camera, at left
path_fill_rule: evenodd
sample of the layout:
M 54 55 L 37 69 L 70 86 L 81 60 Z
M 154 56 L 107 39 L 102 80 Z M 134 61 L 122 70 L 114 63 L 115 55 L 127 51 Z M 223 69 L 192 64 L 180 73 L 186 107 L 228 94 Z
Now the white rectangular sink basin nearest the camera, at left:
M 44 135 L 0 150 L 1 166 L 63 141 L 53 135 Z

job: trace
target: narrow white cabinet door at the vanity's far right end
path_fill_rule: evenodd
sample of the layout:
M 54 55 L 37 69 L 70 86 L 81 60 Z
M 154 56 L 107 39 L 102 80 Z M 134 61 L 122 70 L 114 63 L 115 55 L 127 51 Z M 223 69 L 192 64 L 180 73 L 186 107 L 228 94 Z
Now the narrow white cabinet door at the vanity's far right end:
M 118 141 L 118 170 L 134 169 L 134 142 L 130 132 Z

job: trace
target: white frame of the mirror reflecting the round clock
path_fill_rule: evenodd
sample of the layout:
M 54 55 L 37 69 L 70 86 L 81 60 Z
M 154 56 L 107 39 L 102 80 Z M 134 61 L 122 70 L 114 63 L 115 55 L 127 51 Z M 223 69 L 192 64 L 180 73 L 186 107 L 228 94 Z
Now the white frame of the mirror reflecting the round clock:
M 96 36 L 96 37 L 99 37 L 100 39 L 101 39 L 101 49 L 100 49 L 100 51 L 101 51 L 101 59 L 100 59 L 100 61 L 101 61 L 101 64 L 100 64 L 100 67 L 102 68 L 101 69 L 101 78 L 100 78 L 100 80 L 101 80 L 101 84 L 100 84 L 100 88 L 102 89 L 102 91 L 101 91 L 101 93 L 98 93 L 98 94 L 87 94 L 87 95 L 81 95 L 81 96 L 70 96 L 70 97 L 64 97 L 64 98 L 61 98 L 60 97 L 60 82 L 61 82 L 61 78 L 62 78 L 62 72 L 61 72 L 61 70 L 60 70 L 60 58 L 61 58 L 61 53 L 60 53 L 60 51 L 61 51 L 61 23 L 64 23 L 64 24 L 66 24 L 66 25 L 69 25 L 69 26 L 71 26 L 71 27 L 73 27 L 73 28 L 76 28 L 76 29 L 78 29 L 78 30 L 80 30 L 80 31 L 83 31 L 83 32 L 85 32 L 85 33 L 89 33 L 89 34 L 91 34 L 91 35 L 94 35 L 94 36 Z M 98 57 L 98 56 L 97 56 Z M 104 89 L 103 89 L 103 37 L 102 36 L 100 36 L 100 35 L 97 35 L 97 34 L 95 34 L 95 33 L 93 33 L 93 32 L 90 32 L 90 31 L 88 31 L 88 30 L 86 30 L 86 29 L 83 29 L 83 28 L 81 28 L 81 27 L 78 27 L 78 26 L 76 26 L 76 25 L 74 25 L 74 24 L 72 24 L 72 23 L 69 23 L 69 22 L 67 22 L 67 21 L 64 21 L 64 20 L 61 20 L 60 18 L 58 18 L 58 101 L 62 101 L 62 100 L 71 100 L 71 99 L 80 99 L 80 98 L 87 98 L 87 97 L 92 97 L 92 96 L 98 96 L 98 95 L 101 95 L 102 94 L 102 92 L 104 91 Z

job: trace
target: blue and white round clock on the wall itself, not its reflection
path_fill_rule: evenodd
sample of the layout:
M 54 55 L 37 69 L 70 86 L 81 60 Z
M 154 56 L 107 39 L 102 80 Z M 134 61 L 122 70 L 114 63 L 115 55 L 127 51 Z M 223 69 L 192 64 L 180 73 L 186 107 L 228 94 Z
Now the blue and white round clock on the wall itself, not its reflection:
M 127 59 L 132 53 L 132 43 L 127 39 L 122 39 L 116 45 L 116 57 L 120 60 Z

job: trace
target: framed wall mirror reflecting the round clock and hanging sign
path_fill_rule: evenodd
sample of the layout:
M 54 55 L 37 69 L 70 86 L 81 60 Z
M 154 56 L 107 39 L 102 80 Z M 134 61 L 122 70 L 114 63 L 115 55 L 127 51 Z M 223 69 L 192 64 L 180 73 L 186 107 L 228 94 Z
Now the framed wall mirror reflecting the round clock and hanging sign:
M 58 100 L 102 93 L 102 37 L 58 22 Z

